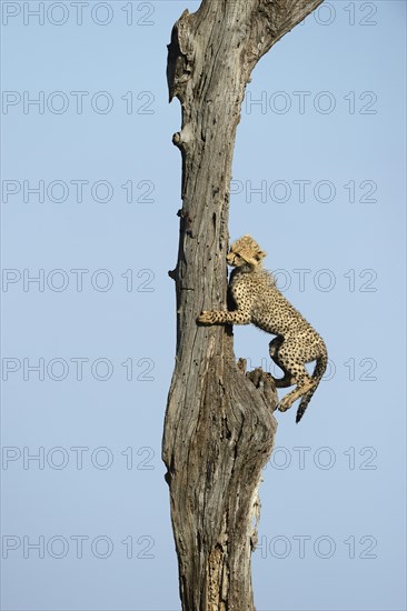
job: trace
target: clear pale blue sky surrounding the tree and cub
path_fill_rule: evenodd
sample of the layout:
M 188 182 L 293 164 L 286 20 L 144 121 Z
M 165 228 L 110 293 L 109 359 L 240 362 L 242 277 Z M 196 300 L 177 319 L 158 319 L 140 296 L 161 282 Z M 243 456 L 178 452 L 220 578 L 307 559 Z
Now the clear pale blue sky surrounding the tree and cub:
M 9 611 L 180 608 L 160 461 L 180 207 L 166 44 L 197 6 L 1 2 Z M 248 87 L 230 234 L 259 241 L 330 358 L 300 425 L 277 415 L 259 611 L 406 609 L 405 68 L 403 1 L 332 1 Z M 235 337 L 270 367 L 268 337 Z

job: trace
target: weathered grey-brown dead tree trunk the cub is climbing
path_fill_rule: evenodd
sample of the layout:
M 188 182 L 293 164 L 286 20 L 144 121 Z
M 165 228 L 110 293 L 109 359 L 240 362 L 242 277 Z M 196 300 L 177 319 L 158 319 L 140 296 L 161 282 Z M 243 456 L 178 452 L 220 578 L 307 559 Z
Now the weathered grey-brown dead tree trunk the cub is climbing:
M 162 459 L 183 611 L 254 610 L 257 491 L 274 444 L 277 397 L 261 370 L 250 379 L 237 367 L 230 327 L 198 327 L 196 318 L 227 299 L 231 160 L 251 70 L 321 1 L 204 0 L 171 34 L 170 100 L 182 106 L 182 129 L 173 136 L 182 209 L 170 272 L 177 355 Z

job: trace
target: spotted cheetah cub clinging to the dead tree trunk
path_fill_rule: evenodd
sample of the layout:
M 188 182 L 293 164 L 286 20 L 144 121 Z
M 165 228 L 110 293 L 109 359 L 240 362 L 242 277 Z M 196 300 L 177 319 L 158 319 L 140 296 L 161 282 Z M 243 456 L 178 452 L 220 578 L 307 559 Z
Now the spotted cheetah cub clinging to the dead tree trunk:
M 250 322 L 277 335 L 269 343 L 274 362 L 284 371 L 275 380 L 276 388 L 296 384 L 278 404 L 280 411 L 288 410 L 301 397 L 296 422 L 304 415 L 307 405 L 327 368 L 327 349 L 324 340 L 287 301 L 277 289 L 271 273 L 262 269 L 266 252 L 251 236 L 244 236 L 230 247 L 227 262 L 234 267 L 229 289 L 236 310 L 204 311 L 197 322 L 201 324 L 249 324 Z M 317 361 L 312 375 L 305 363 Z

